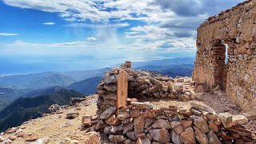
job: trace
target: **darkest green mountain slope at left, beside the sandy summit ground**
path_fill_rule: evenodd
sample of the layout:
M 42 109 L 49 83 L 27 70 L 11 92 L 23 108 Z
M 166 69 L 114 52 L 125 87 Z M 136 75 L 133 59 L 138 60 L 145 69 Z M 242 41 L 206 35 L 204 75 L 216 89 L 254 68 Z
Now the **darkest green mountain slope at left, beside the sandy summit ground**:
M 0 112 L 0 131 L 18 126 L 30 118 L 41 117 L 52 104 L 68 105 L 70 98 L 82 97 L 74 90 L 60 90 L 55 94 L 34 98 L 18 98 Z

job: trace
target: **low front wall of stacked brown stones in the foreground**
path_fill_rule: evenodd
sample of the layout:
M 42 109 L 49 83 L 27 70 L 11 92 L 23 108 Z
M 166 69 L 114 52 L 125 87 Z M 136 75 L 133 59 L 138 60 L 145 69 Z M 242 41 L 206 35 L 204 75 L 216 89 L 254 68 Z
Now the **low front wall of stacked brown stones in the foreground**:
M 254 143 L 255 135 L 243 124 L 242 115 L 216 114 L 209 106 L 190 102 L 191 108 L 154 109 L 150 102 L 127 98 L 118 110 L 108 107 L 100 115 L 86 116 L 83 125 L 107 135 L 112 143 Z

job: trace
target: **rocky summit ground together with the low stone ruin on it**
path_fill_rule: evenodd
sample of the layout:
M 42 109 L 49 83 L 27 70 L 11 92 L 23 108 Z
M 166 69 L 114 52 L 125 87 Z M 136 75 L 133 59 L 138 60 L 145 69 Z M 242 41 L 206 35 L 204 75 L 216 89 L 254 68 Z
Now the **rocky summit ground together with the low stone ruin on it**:
M 256 117 L 230 104 L 222 91 L 201 91 L 202 86 L 191 78 L 134 71 L 129 62 L 122 67 L 128 80 L 127 98 L 121 100 L 125 102 L 121 102 L 122 106 L 118 102 L 118 82 L 122 79 L 118 73 L 122 70 L 117 68 L 103 77 L 98 94 L 72 99 L 74 106 L 50 106 L 49 114 L 6 130 L 0 141 L 254 143 Z

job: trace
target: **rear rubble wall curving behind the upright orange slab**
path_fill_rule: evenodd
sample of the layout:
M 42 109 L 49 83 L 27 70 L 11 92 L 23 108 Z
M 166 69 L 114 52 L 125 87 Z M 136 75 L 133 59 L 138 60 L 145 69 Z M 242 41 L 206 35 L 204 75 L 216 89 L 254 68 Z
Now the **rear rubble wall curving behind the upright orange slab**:
M 151 71 L 132 70 L 131 62 L 106 72 L 98 85 L 98 109 L 106 110 L 116 105 L 117 82 L 120 70 L 125 70 L 128 81 L 128 97 L 130 98 L 171 98 L 181 101 L 194 99 L 194 91 L 186 90 L 182 82 L 190 82 L 185 78 L 169 78 Z

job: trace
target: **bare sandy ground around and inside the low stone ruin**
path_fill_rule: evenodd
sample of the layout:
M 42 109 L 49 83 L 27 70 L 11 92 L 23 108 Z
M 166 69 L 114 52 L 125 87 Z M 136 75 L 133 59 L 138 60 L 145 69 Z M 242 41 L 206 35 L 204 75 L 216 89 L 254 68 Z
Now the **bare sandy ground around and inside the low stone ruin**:
M 186 89 L 192 90 L 187 83 L 183 83 Z M 95 115 L 97 110 L 98 95 L 90 95 L 85 101 L 77 103 L 75 106 L 69 106 L 65 109 L 58 110 L 54 114 L 45 114 L 42 118 L 37 118 L 24 122 L 22 126 L 18 126 L 0 135 L 2 143 L 30 143 L 26 141 L 34 141 L 32 143 L 84 143 L 86 140 L 86 131 L 80 130 L 82 116 Z M 139 98 L 139 102 L 153 103 L 154 107 L 160 106 L 186 106 L 190 107 L 190 102 L 179 102 L 170 100 L 169 98 Z M 198 93 L 197 98 L 192 102 L 212 107 L 217 113 L 229 112 L 230 114 L 242 114 L 246 117 L 250 114 L 245 113 L 238 106 L 231 104 L 226 98 L 226 94 L 210 94 Z M 71 113 L 71 117 L 66 118 Z M 74 115 L 72 115 L 72 113 Z M 250 130 L 256 130 L 256 121 L 250 120 L 246 127 Z M 102 142 L 104 135 L 101 136 Z

